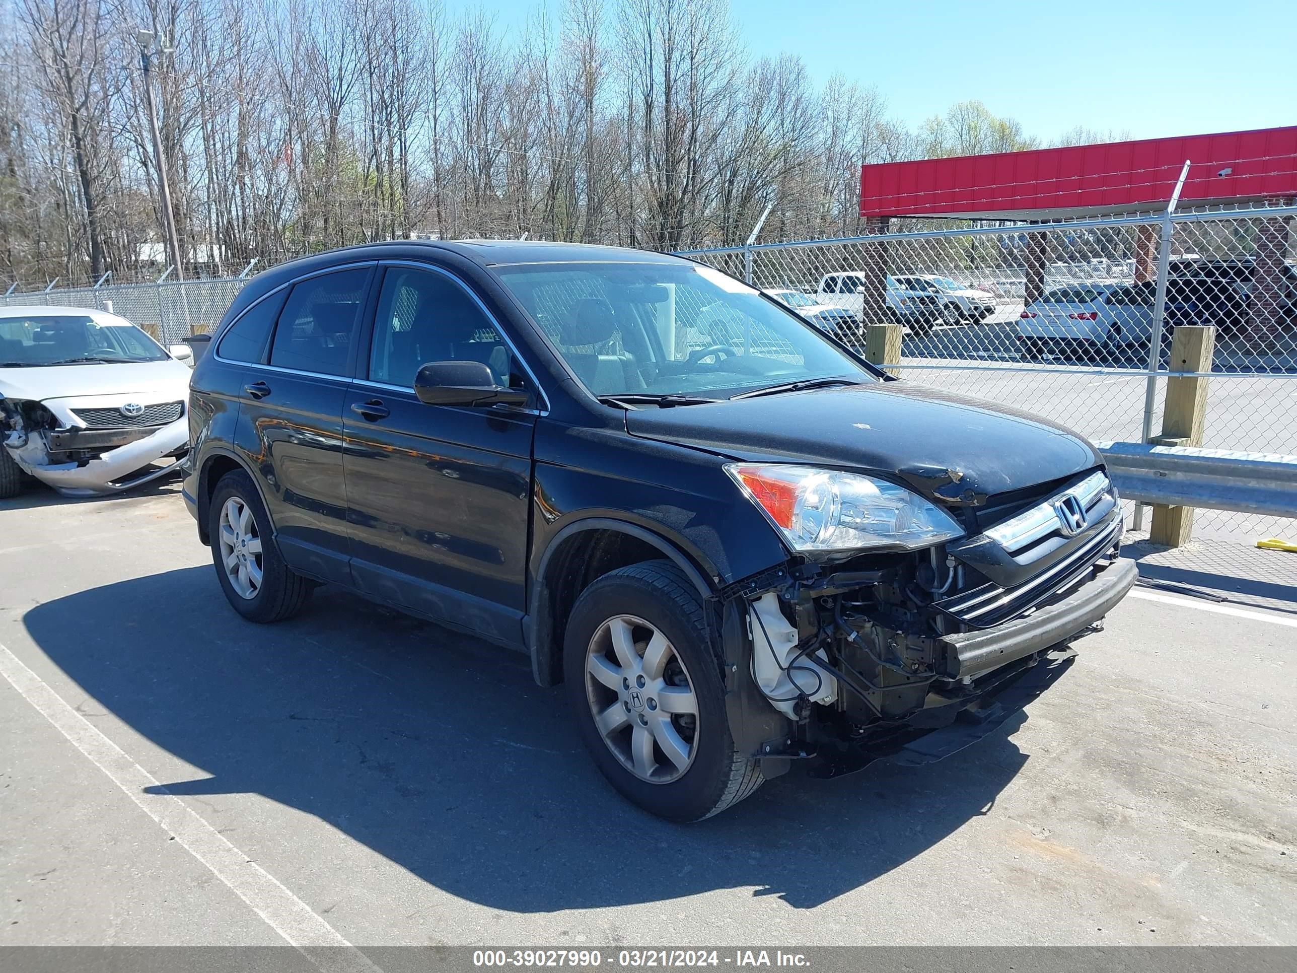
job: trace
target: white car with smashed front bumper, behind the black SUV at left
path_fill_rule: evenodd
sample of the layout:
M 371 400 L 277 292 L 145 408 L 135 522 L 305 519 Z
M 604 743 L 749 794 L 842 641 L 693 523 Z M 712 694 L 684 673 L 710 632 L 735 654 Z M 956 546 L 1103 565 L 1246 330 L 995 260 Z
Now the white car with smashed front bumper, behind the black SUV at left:
M 83 307 L 0 307 L 0 497 L 25 476 L 70 497 L 165 476 L 188 450 L 191 352 Z

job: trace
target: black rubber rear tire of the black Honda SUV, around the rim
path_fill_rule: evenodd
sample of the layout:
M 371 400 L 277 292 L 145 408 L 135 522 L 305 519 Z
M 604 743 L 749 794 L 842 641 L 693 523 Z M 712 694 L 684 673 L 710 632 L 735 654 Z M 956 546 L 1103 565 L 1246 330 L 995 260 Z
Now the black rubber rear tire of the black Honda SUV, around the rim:
M 227 515 L 227 511 L 235 510 L 245 510 L 248 514 L 243 533 L 237 528 L 233 533 L 235 540 L 241 538 L 248 544 L 246 546 L 235 545 L 237 546 L 236 553 L 243 554 L 244 564 L 248 567 L 248 577 L 254 577 L 252 566 L 258 566 L 261 570 L 259 581 L 250 595 L 248 590 L 252 585 L 240 592 L 236 586 L 240 584 L 237 572 L 226 568 L 226 558 L 230 553 L 226 537 L 230 535 L 222 533 L 224 527 L 222 518 Z M 239 519 L 241 520 L 241 518 Z M 246 531 L 248 524 L 253 528 L 252 532 Z M 266 514 L 261 494 L 248 474 L 236 471 L 220 477 L 208 507 L 208 531 L 211 537 L 211 563 L 217 571 L 217 580 L 235 611 L 249 621 L 268 624 L 289 619 L 302 610 L 314 584 L 292 571 L 279 555 L 270 515 Z

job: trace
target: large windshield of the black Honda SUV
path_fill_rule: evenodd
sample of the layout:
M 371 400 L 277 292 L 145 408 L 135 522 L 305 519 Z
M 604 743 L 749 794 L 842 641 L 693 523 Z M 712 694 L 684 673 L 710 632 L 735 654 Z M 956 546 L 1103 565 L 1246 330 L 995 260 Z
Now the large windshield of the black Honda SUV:
M 787 383 L 875 381 L 796 314 L 690 263 L 498 267 L 595 396 L 730 398 Z

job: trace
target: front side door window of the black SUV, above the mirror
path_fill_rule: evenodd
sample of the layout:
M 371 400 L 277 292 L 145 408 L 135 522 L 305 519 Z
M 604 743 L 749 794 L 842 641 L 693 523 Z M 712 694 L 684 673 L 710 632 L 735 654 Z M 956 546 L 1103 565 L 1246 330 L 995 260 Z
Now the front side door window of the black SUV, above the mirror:
M 428 362 L 472 361 L 510 385 L 512 358 L 490 318 L 445 274 L 389 267 L 383 278 L 370 344 L 370 380 L 414 385 Z

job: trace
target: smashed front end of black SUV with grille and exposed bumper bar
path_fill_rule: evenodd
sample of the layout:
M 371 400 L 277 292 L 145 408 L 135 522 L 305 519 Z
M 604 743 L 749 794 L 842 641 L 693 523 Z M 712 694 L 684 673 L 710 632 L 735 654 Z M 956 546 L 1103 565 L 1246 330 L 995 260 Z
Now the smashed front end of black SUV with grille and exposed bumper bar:
M 986 519 L 926 549 L 794 557 L 719 594 L 732 729 L 767 776 L 962 749 L 1065 669 L 1135 581 L 1102 471 Z

